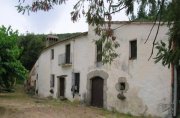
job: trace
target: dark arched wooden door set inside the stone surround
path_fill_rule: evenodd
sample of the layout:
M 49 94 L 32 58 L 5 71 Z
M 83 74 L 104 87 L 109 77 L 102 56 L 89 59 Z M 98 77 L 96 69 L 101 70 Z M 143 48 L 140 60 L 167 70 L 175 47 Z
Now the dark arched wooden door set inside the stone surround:
M 92 78 L 91 105 L 103 107 L 103 87 L 104 80 L 101 77 Z

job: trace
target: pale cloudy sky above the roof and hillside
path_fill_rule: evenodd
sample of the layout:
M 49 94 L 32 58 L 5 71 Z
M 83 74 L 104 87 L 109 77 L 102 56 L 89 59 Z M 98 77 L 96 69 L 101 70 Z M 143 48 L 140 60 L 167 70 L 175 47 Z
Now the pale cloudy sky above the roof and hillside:
M 55 6 L 54 9 L 44 12 L 22 14 L 18 13 L 15 6 L 19 0 L 0 0 L 0 25 L 11 26 L 20 34 L 60 34 L 88 31 L 86 18 L 81 17 L 78 22 L 71 21 L 70 12 L 76 0 L 68 0 L 65 4 Z M 114 21 L 128 20 L 125 13 L 113 16 Z

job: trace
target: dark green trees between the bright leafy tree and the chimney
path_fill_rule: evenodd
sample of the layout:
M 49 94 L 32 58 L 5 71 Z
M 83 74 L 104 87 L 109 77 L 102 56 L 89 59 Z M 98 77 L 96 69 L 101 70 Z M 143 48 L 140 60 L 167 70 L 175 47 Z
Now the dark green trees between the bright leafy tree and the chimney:
M 28 33 L 19 36 L 18 46 L 22 49 L 20 61 L 27 70 L 31 70 L 39 54 L 45 47 L 46 35 Z

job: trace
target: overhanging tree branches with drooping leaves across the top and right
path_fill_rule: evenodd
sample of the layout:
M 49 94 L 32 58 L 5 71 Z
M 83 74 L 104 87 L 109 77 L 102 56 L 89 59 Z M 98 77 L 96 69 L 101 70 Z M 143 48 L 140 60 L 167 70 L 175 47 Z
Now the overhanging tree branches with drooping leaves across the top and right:
M 49 11 L 54 5 L 60 5 L 66 0 L 35 0 L 32 5 L 23 6 L 23 1 L 19 0 L 20 4 L 17 6 L 18 12 L 31 11 L 37 12 L 38 10 Z M 88 10 L 84 10 L 84 2 L 89 2 Z M 97 44 L 103 43 L 103 62 L 108 63 L 113 61 L 118 55 L 115 53 L 115 49 L 119 47 L 119 44 L 113 36 L 113 30 L 111 28 L 112 14 L 117 14 L 125 9 L 126 14 L 131 18 L 140 20 L 148 19 L 154 21 L 154 28 L 158 21 L 158 29 L 156 36 L 154 37 L 152 53 L 154 46 L 159 49 L 156 56 L 156 62 L 162 60 L 163 65 L 170 65 L 173 63 L 177 65 L 177 61 L 180 60 L 179 50 L 179 37 L 180 37 L 180 24 L 179 24 L 179 0 L 78 0 L 74 5 L 71 12 L 72 20 L 77 21 L 81 15 L 85 15 L 89 25 L 95 25 L 95 33 L 100 36 L 100 39 L 96 41 Z M 138 3 L 139 10 L 137 18 L 134 16 L 134 5 Z M 149 9 L 148 11 L 146 9 Z M 165 47 L 164 43 L 156 44 L 156 38 L 159 31 L 161 21 L 168 22 L 170 28 L 169 46 Z M 133 21 L 131 21 L 133 22 Z M 151 31 L 149 35 L 151 34 Z M 148 36 L 149 37 L 149 36 Z M 148 38 L 147 38 L 148 40 Z M 150 58 L 151 58 L 150 56 Z

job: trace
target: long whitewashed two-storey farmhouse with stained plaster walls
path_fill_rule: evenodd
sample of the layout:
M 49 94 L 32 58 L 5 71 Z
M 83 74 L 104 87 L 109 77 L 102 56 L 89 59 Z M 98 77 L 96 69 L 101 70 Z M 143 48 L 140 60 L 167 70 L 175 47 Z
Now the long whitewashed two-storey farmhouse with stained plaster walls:
M 112 22 L 119 57 L 103 65 L 102 47 L 94 40 L 94 27 L 88 32 L 57 41 L 47 37 L 47 47 L 35 63 L 31 80 L 39 97 L 79 100 L 87 105 L 103 107 L 133 115 L 168 117 L 176 114 L 177 78 L 179 70 L 154 63 L 151 54 L 155 25 L 147 43 L 150 22 Z M 168 40 L 168 27 L 160 26 L 157 41 Z M 52 43 L 53 42 L 53 43 Z M 175 75 L 174 75 L 175 73 Z M 171 79 L 174 78 L 174 79 Z M 174 83 L 175 81 L 175 83 Z M 172 87 L 175 86 L 175 87 Z

